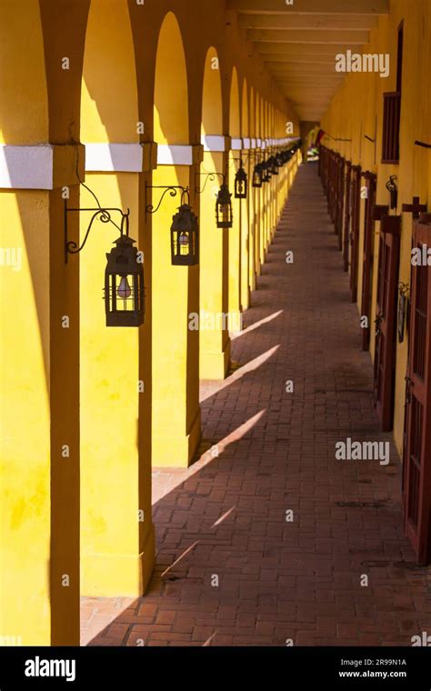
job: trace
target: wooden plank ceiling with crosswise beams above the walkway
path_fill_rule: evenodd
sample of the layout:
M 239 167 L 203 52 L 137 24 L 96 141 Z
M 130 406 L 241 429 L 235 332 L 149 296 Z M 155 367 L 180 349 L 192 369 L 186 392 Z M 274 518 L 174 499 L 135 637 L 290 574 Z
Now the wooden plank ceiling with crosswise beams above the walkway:
M 390 0 L 227 0 L 301 120 L 320 121 L 344 79 L 336 54 L 361 52 Z

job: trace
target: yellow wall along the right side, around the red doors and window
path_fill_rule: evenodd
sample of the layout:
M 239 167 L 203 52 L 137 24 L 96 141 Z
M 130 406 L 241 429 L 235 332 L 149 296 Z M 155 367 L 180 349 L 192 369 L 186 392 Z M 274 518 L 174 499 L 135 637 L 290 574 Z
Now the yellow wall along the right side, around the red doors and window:
M 396 53 L 397 30 L 404 21 L 403 84 L 400 127 L 399 165 L 381 163 L 383 94 L 396 91 Z M 389 195 L 386 181 L 390 175 L 397 175 L 398 209 L 410 204 L 413 195 L 420 196 L 421 202 L 431 207 L 431 176 L 428 150 L 415 146 L 415 140 L 431 143 L 429 123 L 430 112 L 430 45 L 431 45 L 431 5 L 425 0 L 392 0 L 390 15 L 380 16 L 378 25 L 371 32 L 369 45 L 360 53 L 388 53 L 390 55 L 390 75 L 382 78 L 372 73 L 352 73 L 346 76 L 338 89 L 326 115 L 322 128 L 333 137 L 352 138 L 351 143 L 334 142 L 328 137 L 323 143 L 335 148 L 353 164 L 361 165 L 377 175 L 377 204 L 388 204 Z M 425 93 L 424 93 L 425 92 Z M 360 107 L 358 105 L 360 104 Z M 375 137 L 374 145 L 364 135 Z M 376 158 L 375 158 L 376 155 Z M 378 232 L 378 222 L 376 232 Z M 364 202 L 362 203 L 360 225 L 360 257 L 362 257 L 364 228 Z M 399 280 L 410 281 L 410 247 L 412 234 L 412 215 L 403 214 L 401 235 L 401 261 Z M 375 243 L 371 356 L 374 357 L 376 315 L 376 268 L 378 264 L 378 243 Z M 358 305 L 362 286 L 362 263 L 359 262 Z M 406 376 L 407 339 L 396 345 L 396 407 L 394 436 L 398 451 L 403 445 L 404 400 Z

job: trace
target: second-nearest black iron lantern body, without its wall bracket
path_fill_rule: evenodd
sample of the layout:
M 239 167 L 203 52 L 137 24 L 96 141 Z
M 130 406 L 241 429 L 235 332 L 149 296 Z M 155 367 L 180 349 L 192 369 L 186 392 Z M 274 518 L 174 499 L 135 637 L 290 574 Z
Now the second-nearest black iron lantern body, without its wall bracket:
M 171 256 L 175 266 L 199 263 L 199 226 L 189 204 L 182 204 L 172 218 Z

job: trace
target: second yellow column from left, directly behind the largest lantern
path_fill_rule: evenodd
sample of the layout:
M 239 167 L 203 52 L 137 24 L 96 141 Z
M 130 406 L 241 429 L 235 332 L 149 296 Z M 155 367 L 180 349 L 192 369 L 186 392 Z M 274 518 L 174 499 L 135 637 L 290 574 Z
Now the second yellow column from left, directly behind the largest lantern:
M 139 244 L 139 175 L 91 173 L 86 184 L 103 205 L 130 209 L 130 236 Z M 91 206 L 86 191 L 81 204 Z M 118 225 L 119 215 L 112 214 Z M 81 215 L 81 239 L 89 217 Z M 150 459 L 139 457 L 139 328 L 106 327 L 106 252 L 119 236 L 95 221 L 81 255 L 82 589 L 86 596 L 142 595 L 154 565 L 151 504 L 138 486 Z M 72 257 L 71 262 L 75 261 Z M 140 328 L 145 328 L 140 327 Z M 145 382 L 146 379 L 146 382 Z M 149 497 L 148 497 L 149 498 Z M 143 525 L 141 525 L 143 524 Z

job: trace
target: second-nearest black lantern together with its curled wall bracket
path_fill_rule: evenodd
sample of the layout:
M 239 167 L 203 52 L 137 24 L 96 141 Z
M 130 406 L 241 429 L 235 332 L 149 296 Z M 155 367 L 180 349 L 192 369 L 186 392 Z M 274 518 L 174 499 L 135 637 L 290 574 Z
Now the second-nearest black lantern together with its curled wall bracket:
M 147 204 L 147 190 L 149 189 L 165 190 L 155 207 L 152 204 Z M 199 224 L 190 206 L 188 187 L 148 185 L 145 183 L 145 214 L 155 214 L 160 208 L 164 196 L 168 192 L 171 196 L 176 196 L 177 190 L 181 190 L 181 205 L 178 206 L 177 213 L 172 217 L 171 262 L 174 266 L 193 266 L 199 263 Z

